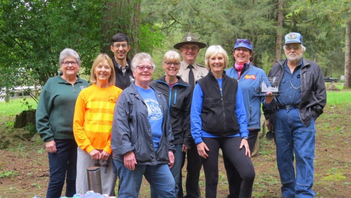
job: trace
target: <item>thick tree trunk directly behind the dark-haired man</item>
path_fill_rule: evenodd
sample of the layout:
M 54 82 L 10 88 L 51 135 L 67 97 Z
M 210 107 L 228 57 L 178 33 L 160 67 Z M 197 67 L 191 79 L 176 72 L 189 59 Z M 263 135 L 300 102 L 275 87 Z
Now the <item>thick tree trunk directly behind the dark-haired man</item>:
M 105 5 L 102 16 L 101 52 L 110 53 L 110 40 L 114 34 L 123 33 L 129 38 L 132 58 L 139 52 L 139 13 L 141 0 L 110 0 Z

